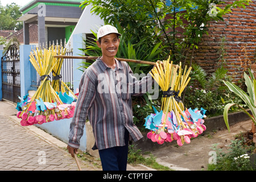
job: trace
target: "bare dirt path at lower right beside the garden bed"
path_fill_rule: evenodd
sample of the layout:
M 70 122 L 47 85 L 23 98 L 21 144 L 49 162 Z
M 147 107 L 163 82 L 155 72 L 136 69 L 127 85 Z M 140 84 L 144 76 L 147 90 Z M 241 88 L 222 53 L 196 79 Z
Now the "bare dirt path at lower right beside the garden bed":
M 185 143 L 178 147 L 176 142 L 161 148 L 151 151 L 157 159 L 156 162 L 175 170 L 207 170 L 209 163 L 210 151 L 212 147 L 218 143 L 218 147 L 227 147 L 231 140 L 234 140 L 234 135 L 240 134 L 251 129 L 251 120 L 237 123 L 228 130 L 217 131 L 216 133 L 205 134 L 191 140 L 191 143 Z

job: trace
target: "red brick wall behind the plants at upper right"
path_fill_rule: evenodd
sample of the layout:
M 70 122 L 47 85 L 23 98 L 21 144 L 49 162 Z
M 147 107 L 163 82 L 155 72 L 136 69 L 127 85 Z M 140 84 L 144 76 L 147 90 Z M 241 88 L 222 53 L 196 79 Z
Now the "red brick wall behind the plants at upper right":
M 225 67 L 229 69 L 230 75 L 240 80 L 245 67 L 255 61 L 256 1 L 251 2 L 246 9 L 233 9 L 232 13 L 224 16 L 224 22 L 210 22 L 208 32 L 209 35 L 203 35 L 203 41 L 195 51 L 195 63 L 208 73 L 214 72 L 220 60 L 221 39 L 225 37 Z

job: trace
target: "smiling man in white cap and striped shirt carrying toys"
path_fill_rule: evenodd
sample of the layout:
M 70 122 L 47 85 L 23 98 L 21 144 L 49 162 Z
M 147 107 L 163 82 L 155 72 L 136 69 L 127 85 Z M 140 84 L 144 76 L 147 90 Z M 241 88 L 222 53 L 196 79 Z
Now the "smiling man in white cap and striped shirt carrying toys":
M 114 58 L 120 35 L 110 25 L 98 30 L 97 45 L 102 56 L 82 75 L 67 147 L 72 156 L 77 153 L 88 117 L 96 140 L 94 149 L 99 150 L 104 171 L 126 170 L 129 138 L 142 138 L 133 123 L 131 95 L 141 96 L 152 88 L 150 74 L 137 80 L 126 62 Z

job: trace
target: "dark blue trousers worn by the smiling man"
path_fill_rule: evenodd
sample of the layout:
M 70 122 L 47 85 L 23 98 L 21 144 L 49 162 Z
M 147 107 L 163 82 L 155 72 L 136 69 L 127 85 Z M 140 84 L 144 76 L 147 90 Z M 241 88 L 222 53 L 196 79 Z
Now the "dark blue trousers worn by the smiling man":
M 125 129 L 125 146 L 99 150 L 103 171 L 126 171 L 129 131 Z

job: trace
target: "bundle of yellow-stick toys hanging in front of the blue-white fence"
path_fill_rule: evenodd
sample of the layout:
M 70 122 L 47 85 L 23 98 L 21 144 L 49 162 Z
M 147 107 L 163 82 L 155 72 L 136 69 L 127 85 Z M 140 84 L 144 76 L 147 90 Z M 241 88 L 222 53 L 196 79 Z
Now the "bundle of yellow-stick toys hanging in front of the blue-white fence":
M 77 96 L 61 80 L 60 69 L 63 59 L 54 57 L 65 55 L 66 49 L 52 46 L 43 51 L 38 48 L 33 51 L 34 53 L 30 52 L 30 62 L 40 76 L 40 85 L 31 98 L 28 94 L 23 98 L 19 97 L 21 102 L 17 104 L 16 116 L 22 119 L 20 125 L 41 125 L 54 120 L 72 118 Z M 49 76 L 51 72 L 52 81 Z

